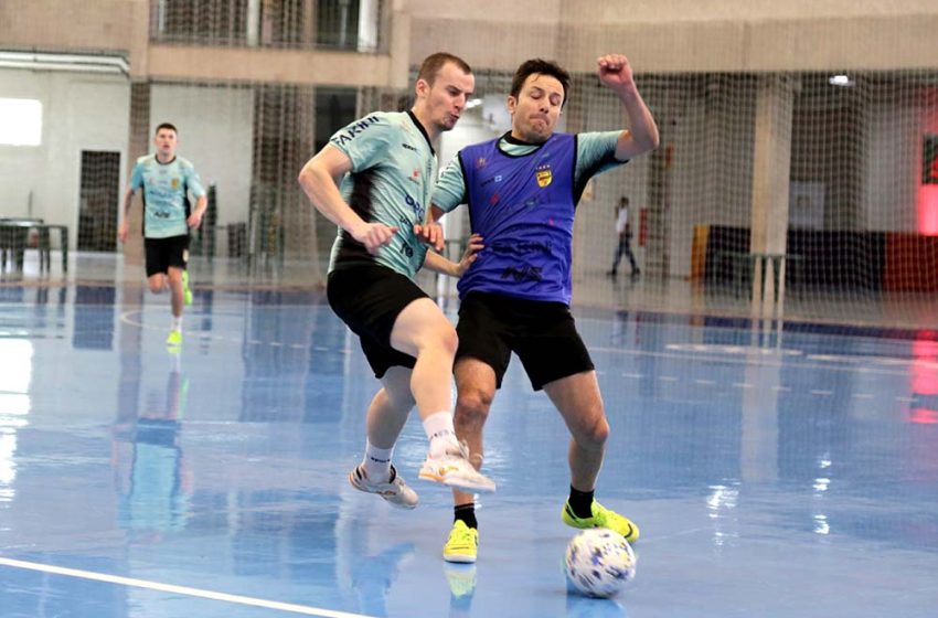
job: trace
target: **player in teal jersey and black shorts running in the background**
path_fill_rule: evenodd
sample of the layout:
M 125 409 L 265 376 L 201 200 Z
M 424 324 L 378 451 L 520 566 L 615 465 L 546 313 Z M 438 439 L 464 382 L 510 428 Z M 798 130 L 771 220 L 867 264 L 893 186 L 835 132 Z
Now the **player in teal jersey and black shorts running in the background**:
M 143 249 L 147 262 L 147 284 L 150 291 L 161 294 L 169 287 L 172 302 L 172 328 L 167 343 L 182 343 L 182 308 L 192 303 L 189 290 L 189 228 L 202 224 L 209 205 L 205 189 L 195 168 L 175 156 L 178 131 L 163 122 L 157 127 L 154 154 L 140 157 L 130 174 L 130 187 L 124 199 L 124 221 L 118 238 L 127 238 L 127 216 L 134 204 L 134 193 L 143 192 Z M 195 210 L 190 213 L 189 196 L 195 196 Z

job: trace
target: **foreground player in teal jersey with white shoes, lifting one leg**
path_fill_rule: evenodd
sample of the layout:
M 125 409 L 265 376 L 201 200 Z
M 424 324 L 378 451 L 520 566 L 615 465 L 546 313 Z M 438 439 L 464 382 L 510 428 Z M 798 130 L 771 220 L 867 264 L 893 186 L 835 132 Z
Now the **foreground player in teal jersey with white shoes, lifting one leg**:
M 457 265 L 427 252 L 425 221 L 437 178 L 433 143 L 450 130 L 475 89 L 461 58 L 437 53 L 420 66 L 408 111 L 375 111 L 337 131 L 307 162 L 299 183 L 310 202 L 339 226 L 332 246 L 327 297 L 332 310 L 359 335 L 382 388 L 367 411 L 364 458 L 349 475 L 361 491 L 413 509 L 416 492 L 391 459 L 414 405 L 429 439 L 420 478 L 470 491 L 494 483 L 469 462 L 452 426 L 452 360 L 456 330 L 415 283 L 424 265 L 458 275 Z M 471 252 L 470 252 L 471 253 Z

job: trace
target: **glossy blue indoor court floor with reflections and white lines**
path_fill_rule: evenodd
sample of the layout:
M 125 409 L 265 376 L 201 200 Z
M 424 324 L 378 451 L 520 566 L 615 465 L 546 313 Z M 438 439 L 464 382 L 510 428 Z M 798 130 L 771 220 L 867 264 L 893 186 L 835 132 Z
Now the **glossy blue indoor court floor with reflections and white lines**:
M 200 289 L 182 351 L 135 285 L 0 287 L 0 616 L 930 617 L 938 333 L 578 309 L 612 435 L 597 497 L 642 528 L 619 597 L 559 564 L 567 433 L 515 360 L 478 564 L 449 492 L 345 476 L 376 388 L 317 292 Z

